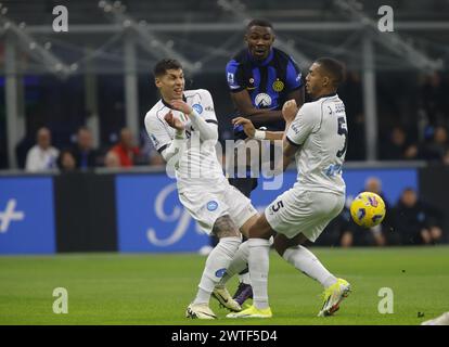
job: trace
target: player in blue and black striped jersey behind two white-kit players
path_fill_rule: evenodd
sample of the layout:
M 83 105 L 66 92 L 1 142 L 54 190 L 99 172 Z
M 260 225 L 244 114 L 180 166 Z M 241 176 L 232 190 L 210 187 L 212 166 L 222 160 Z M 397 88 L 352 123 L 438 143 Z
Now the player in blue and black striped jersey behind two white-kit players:
M 235 106 L 233 117 L 252 120 L 256 128 L 282 131 L 285 127 L 282 106 L 294 99 L 298 107 L 304 103 L 302 73 L 292 56 L 273 48 L 274 29 L 270 22 L 253 20 L 246 26 L 247 47 L 227 65 L 226 75 Z M 245 139 L 243 128 L 234 128 L 234 139 Z M 271 151 L 273 152 L 273 151 Z M 247 172 L 251 170 L 247 169 Z M 257 187 L 257 178 L 230 178 L 230 183 L 249 197 Z M 245 273 L 246 272 L 246 273 Z M 243 304 L 252 297 L 247 271 L 241 272 L 234 298 Z

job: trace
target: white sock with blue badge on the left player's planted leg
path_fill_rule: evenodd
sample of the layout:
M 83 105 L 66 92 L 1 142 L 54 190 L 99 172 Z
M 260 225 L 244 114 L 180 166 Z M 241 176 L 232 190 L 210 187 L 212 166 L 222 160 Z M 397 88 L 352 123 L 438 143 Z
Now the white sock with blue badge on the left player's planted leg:
M 240 237 L 220 239 L 207 257 L 198 292 L 193 304 L 209 304 L 210 293 L 224 274 L 241 242 Z

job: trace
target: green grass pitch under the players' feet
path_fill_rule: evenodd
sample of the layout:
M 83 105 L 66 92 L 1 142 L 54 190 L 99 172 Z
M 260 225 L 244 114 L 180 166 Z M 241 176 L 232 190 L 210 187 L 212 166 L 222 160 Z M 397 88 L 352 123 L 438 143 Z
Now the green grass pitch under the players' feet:
M 316 317 L 321 285 L 270 253 L 272 319 L 189 320 L 204 256 L 73 254 L 0 257 L 0 324 L 409 324 L 449 310 L 449 247 L 317 248 L 312 252 L 352 293 L 331 318 Z M 236 281 L 229 283 L 233 293 Z M 68 313 L 53 313 L 53 290 L 68 293 Z M 394 313 L 381 314 L 381 288 L 393 291 Z M 231 293 L 231 294 L 232 294 Z M 385 294 L 384 294 L 385 295 Z M 381 305 L 384 307 L 384 305 Z M 423 316 L 424 314 L 424 316 Z

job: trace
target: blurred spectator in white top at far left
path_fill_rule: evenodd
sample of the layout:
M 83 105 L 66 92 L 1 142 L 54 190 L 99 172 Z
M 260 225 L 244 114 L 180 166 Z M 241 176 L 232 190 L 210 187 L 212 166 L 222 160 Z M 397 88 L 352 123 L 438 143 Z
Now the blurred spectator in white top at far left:
M 40 128 L 36 140 L 37 144 L 28 151 L 26 156 L 25 170 L 36 172 L 55 168 L 60 152 L 51 146 L 50 130 Z

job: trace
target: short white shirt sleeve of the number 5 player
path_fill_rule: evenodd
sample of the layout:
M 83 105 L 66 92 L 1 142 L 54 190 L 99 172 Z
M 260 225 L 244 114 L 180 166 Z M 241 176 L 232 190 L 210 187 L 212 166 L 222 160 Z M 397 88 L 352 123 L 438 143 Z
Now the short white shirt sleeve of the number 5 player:
M 304 104 L 287 129 L 287 140 L 293 144 L 302 145 L 319 125 L 320 120 L 320 117 L 315 115 L 313 107 Z

